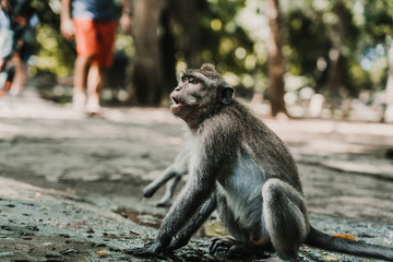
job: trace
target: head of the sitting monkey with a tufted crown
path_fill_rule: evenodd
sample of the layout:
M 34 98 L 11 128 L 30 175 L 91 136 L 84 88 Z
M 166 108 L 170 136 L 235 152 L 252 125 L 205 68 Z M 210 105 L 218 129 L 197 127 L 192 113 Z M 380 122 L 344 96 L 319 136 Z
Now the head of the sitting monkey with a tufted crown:
M 178 86 L 170 98 L 171 112 L 189 122 L 230 105 L 234 102 L 234 88 L 213 64 L 204 63 L 201 69 L 188 69 L 179 74 Z

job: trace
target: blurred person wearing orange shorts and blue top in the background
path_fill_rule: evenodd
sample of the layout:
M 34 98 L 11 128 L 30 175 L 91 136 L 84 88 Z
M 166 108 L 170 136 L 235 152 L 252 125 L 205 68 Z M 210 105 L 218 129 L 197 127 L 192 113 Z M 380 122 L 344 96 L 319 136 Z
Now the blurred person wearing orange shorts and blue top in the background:
M 131 4 L 129 0 L 122 4 L 120 25 L 129 32 Z M 112 62 L 116 27 L 114 0 L 62 0 L 60 31 L 76 41 L 72 97 L 76 110 L 100 115 L 99 94 Z

